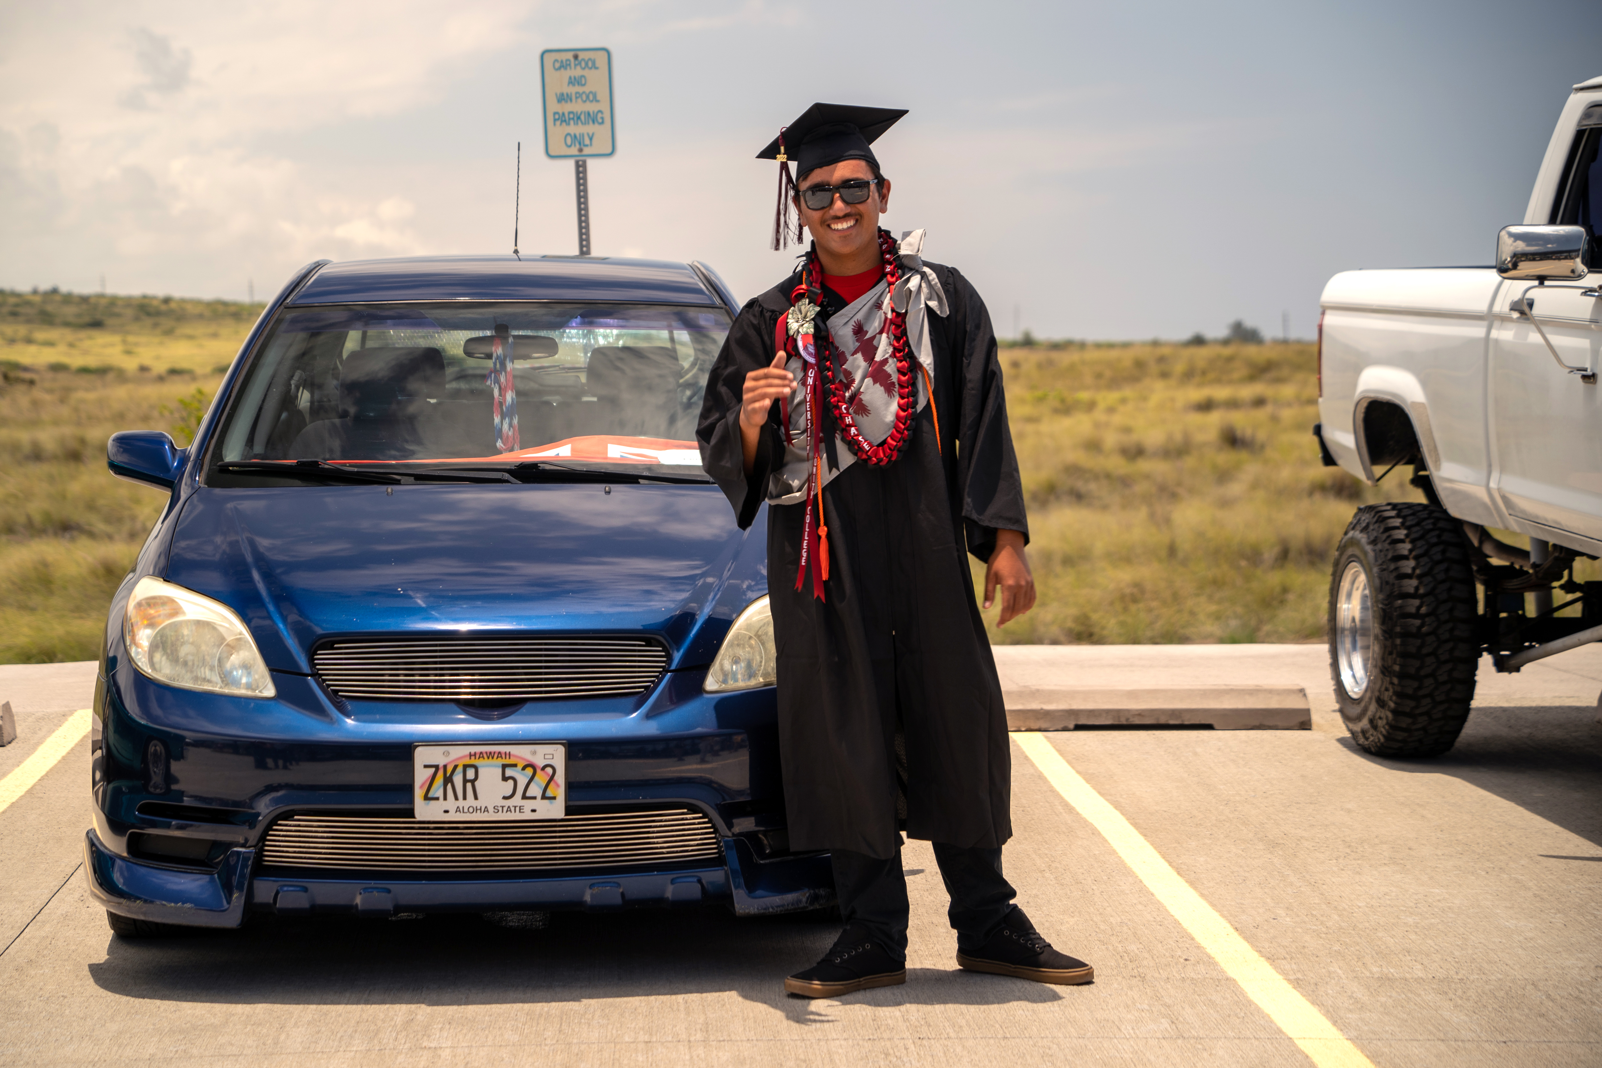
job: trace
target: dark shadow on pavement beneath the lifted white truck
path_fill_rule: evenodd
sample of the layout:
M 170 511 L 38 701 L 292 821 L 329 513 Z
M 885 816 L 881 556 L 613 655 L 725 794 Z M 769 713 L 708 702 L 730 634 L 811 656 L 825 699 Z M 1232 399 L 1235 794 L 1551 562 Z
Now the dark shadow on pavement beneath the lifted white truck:
M 1597 714 L 1594 705 L 1475 706 L 1458 745 L 1427 761 L 1391 761 L 1363 753 L 1349 737 L 1339 741 L 1365 761 L 1397 772 L 1453 775 L 1602 845 Z

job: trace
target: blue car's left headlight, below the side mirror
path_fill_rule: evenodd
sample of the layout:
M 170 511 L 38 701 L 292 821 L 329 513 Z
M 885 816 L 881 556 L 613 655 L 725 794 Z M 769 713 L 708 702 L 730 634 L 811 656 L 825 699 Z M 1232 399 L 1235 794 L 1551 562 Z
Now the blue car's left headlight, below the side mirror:
M 183 586 L 141 578 L 122 616 L 122 639 L 133 666 L 157 682 L 207 693 L 277 693 L 244 620 Z

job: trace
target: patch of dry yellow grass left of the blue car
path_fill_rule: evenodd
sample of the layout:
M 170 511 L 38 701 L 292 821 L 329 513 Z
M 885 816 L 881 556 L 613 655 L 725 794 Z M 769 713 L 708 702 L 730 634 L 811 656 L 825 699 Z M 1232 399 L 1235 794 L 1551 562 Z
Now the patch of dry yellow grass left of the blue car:
M 0 293 L 0 663 L 99 653 L 106 602 L 167 500 L 111 477 L 106 439 L 192 426 L 260 311 Z

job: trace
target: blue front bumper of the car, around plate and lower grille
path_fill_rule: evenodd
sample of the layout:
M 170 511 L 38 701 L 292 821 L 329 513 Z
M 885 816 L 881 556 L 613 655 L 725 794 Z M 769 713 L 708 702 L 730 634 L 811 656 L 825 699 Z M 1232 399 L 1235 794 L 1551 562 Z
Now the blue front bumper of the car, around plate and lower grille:
M 783 837 L 771 690 L 706 695 L 702 673 L 682 671 L 638 700 L 530 705 L 482 722 L 455 706 L 341 709 L 298 676 L 276 674 L 277 700 L 247 701 L 163 687 L 127 661 L 109 668 L 91 738 L 95 823 L 85 868 L 95 900 L 122 916 L 237 927 L 252 911 L 392 916 L 724 903 L 755 914 L 833 901 L 828 855 L 790 853 Z M 492 877 L 263 865 L 268 831 L 280 818 L 409 813 L 415 741 L 546 738 L 569 746 L 570 812 L 695 809 L 711 823 L 721 857 L 660 869 L 598 861 L 593 869 Z

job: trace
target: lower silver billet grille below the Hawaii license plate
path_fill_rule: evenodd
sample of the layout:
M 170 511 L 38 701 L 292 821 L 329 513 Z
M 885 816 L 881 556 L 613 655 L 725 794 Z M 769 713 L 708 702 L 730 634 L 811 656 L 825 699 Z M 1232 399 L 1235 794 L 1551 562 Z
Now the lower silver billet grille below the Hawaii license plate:
M 718 831 L 694 809 L 570 815 L 527 823 L 296 815 L 268 831 L 276 868 L 546 871 L 719 860 Z

